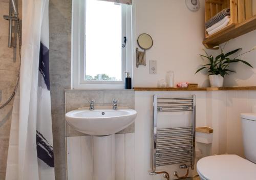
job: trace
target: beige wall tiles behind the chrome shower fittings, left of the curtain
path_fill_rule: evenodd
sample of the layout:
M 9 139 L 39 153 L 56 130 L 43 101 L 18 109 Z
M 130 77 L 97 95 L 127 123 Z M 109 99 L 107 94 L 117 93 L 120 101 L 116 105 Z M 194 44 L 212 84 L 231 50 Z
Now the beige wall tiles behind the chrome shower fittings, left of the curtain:
M 18 3 L 19 16 L 22 17 L 22 1 Z M 9 15 L 9 0 L 0 0 L 0 106 L 11 96 L 19 65 L 18 50 L 8 48 L 9 21 L 3 18 Z M 14 29 L 15 30 L 15 29 Z M 0 179 L 5 179 L 6 162 L 9 145 L 9 135 L 12 115 L 11 101 L 5 108 L 0 109 Z

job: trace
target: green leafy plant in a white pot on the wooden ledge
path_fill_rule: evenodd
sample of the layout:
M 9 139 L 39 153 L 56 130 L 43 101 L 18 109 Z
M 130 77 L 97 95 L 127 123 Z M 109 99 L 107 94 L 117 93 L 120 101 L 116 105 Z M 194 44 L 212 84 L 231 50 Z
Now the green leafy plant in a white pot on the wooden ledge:
M 223 48 L 221 46 L 214 47 L 214 48 L 221 49 L 221 54 L 219 54 L 215 58 L 212 55 L 208 55 L 204 49 L 203 50 L 205 52 L 205 55 L 200 54 L 200 56 L 203 58 L 206 58 L 209 61 L 209 63 L 204 64 L 203 67 L 198 69 L 196 73 L 198 73 L 199 71 L 201 71 L 203 69 L 207 69 L 211 87 L 222 87 L 224 76 L 229 75 L 229 72 L 236 73 L 235 71 L 229 69 L 230 63 L 242 62 L 242 63 L 250 66 L 251 68 L 253 68 L 251 64 L 249 64 L 248 62 L 246 62 L 242 59 L 239 59 L 239 57 L 255 50 L 256 47 L 252 48 L 250 51 L 247 51 L 245 53 L 238 55 L 237 57 L 229 58 L 232 54 L 240 51 L 241 48 L 224 54 L 223 51 L 224 51 L 225 46 L 226 46 L 226 43 Z

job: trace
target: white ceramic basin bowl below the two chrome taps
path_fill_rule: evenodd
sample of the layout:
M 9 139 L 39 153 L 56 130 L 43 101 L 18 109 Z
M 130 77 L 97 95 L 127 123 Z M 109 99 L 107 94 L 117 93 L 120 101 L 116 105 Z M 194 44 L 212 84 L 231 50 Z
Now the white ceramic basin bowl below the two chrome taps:
M 106 136 L 131 125 L 137 112 L 133 109 L 77 109 L 66 113 L 70 126 L 93 136 Z

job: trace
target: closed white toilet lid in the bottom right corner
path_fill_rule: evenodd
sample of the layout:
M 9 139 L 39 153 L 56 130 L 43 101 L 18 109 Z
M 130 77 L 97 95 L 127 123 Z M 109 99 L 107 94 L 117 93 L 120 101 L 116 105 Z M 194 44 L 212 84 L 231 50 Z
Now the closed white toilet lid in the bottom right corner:
M 197 171 L 205 179 L 256 179 L 256 164 L 238 155 L 212 155 L 197 163 Z

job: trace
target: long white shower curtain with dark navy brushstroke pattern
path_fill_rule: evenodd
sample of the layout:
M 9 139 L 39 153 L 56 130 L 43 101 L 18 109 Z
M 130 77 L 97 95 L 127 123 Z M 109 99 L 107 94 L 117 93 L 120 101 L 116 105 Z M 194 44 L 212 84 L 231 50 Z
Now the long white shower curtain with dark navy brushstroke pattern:
M 14 98 L 6 180 L 53 180 L 49 0 L 23 0 L 20 86 Z

